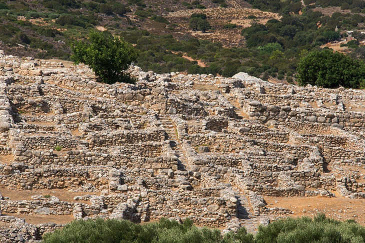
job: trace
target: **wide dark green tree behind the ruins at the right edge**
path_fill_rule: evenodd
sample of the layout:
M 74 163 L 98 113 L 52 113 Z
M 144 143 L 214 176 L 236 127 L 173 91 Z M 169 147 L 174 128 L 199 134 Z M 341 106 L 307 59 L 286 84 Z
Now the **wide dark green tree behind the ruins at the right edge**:
M 331 49 L 314 50 L 302 56 L 298 67 L 300 85 L 363 87 L 365 64 Z

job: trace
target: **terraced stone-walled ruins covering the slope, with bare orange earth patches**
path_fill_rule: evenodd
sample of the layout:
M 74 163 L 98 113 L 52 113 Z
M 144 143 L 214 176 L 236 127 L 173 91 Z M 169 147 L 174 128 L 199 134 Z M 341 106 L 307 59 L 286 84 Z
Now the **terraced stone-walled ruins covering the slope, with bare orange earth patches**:
M 0 56 L 0 242 L 74 219 L 365 224 L 365 91 Z

